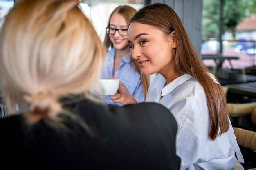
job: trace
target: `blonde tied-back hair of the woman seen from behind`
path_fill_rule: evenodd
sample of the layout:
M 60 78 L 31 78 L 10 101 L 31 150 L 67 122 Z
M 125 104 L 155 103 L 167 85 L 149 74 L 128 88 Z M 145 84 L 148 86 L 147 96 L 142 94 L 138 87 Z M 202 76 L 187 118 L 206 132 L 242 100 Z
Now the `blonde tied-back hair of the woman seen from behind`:
M 0 79 L 29 123 L 58 121 L 59 102 L 98 86 L 105 49 L 79 0 L 20 0 L 0 33 Z

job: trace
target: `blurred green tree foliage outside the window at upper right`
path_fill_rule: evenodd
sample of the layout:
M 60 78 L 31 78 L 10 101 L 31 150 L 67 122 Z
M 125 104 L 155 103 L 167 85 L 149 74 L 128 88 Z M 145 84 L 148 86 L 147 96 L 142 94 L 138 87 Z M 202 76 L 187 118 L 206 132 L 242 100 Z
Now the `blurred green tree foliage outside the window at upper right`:
M 229 31 L 235 38 L 236 25 L 256 13 L 256 0 L 223 0 L 222 33 Z M 220 0 L 203 0 L 202 41 L 218 38 L 220 24 Z

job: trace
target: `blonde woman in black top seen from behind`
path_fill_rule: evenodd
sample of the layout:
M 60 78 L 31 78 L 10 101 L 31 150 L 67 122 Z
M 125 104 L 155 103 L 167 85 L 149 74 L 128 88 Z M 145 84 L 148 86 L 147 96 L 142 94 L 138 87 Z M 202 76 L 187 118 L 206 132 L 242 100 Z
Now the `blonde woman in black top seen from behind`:
M 95 95 L 105 50 L 78 4 L 20 0 L 7 15 L 0 80 L 9 108 L 25 108 L 0 119 L 1 163 L 27 170 L 178 170 L 177 124 L 166 108 L 112 106 Z

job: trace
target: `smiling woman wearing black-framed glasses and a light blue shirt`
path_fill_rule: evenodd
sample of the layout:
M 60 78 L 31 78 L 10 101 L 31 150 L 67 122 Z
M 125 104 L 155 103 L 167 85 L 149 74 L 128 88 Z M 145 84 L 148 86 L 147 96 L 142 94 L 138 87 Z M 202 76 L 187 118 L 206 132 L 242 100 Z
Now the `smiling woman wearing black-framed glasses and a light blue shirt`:
M 108 52 L 101 78 L 117 77 L 137 102 L 144 102 L 150 78 L 154 75 L 141 75 L 137 62 L 130 57 L 128 22 L 136 12 L 136 9 L 128 5 L 118 6 L 112 11 L 104 39 Z M 112 102 L 108 96 L 104 96 L 104 99 L 108 104 L 122 106 L 120 103 Z

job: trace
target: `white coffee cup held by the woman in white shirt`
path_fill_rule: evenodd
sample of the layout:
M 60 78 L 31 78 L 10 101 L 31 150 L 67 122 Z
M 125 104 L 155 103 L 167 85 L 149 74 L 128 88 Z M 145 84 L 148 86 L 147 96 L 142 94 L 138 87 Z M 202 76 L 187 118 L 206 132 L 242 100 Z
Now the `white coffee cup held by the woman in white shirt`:
M 102 90 L 101 95 L 115 95 L 119 87 L 119 79 L 100 79 Z

